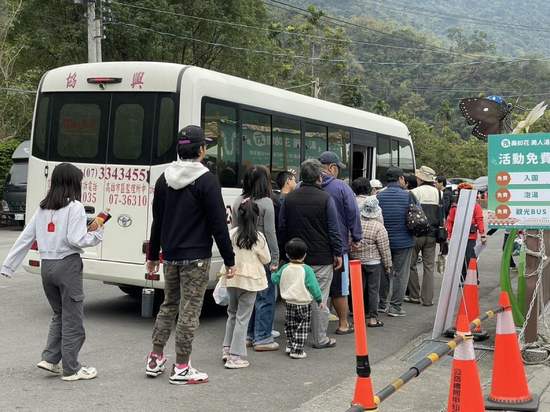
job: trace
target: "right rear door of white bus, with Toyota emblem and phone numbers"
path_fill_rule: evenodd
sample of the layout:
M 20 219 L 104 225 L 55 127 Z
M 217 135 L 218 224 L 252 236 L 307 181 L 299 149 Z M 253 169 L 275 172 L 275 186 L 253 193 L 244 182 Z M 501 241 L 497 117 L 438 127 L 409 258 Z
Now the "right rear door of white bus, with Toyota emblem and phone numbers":
M 105 228 L 102 260 L 145 262 L 151 147 L 155 129 L 156 93 L 113 93 L 107 145 L 102 170 L 103 206 L 111 209 Z

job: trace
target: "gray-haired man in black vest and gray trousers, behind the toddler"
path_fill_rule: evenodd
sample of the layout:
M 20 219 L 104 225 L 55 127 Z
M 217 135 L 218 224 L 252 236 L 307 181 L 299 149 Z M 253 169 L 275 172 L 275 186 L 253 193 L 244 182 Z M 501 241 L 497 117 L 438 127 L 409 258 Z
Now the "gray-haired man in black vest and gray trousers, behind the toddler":
M 287 194 L 279 215 L 281 238 L 285 242 L 300 238 L 307 244 L 305 264 L 311 266 L 321 288 L 325 307 L 320 309 L 316 302 L 311 305 L 311 334 L 315 349 L 336 345 L 335 339 L 327 337 L 330 314 L 327 300 L 333 271 L 342 267 L 338 210 L 331 195 L 321 187 L 322 170 L 320 161 L 314 159 L 300 165 L 300 187 Z

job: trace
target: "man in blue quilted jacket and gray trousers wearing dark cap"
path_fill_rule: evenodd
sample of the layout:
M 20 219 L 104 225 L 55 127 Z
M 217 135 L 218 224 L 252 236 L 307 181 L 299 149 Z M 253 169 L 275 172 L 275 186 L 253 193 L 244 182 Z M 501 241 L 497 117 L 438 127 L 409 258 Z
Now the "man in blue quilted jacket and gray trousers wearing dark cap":
M 405 316 L 401 309 L 410 271 L 410 256 L 412 247 L 415 246 L 415 238 L 407 226 L 408 192 L 405 187 L 405 174 L 397 166 L 390 166 L 386 172 L 388 186 L 376 197 L 382 208 L 384 226 L 390 238 L 391 260 L 393 262 L 393 292 L 391 295 L 388 316 Z M 418 204 L 420 206 L 420 204 Z M 378 311 L 385 312 L 388 306 L 390 293 L 390 277 L 382 275 L 380 279 L 380 295 Z

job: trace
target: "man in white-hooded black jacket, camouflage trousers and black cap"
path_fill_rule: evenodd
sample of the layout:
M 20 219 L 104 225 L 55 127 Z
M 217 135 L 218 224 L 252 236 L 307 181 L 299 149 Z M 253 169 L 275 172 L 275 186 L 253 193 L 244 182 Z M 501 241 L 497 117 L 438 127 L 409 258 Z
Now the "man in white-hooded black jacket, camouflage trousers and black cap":
M 206 139 L 199 126 L 187 126 L 177 135 L 178 161 L 171 163 L 155 184 L 153 223 L 147 272 L 159 270 L 164 259 L 164 303 L 153 330 L 153 351 L 146 374 L 164 371 L 164 346 L 179 312 L 176 328 L 176 361 L 170 383 L 186 385 L 208 381 L 208 375 L 191 367 L 189 356 L 199 326 L 204 293 L 210 276 L 212 237 L 223 258 L 228 278 L 234 275 L 234 253 L 229 237 L 221 186 L 201 161 Z

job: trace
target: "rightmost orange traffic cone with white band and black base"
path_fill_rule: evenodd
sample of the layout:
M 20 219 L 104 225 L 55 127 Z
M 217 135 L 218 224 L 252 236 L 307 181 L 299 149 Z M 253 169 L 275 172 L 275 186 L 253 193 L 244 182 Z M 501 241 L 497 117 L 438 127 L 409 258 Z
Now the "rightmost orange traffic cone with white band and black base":
M 508 293 L 500 293 L 500 306 L 510 306 Z M 538 410 L 538 396 L 531 395 L 527 386 L 511 308 L 498 314 L 496 319 L 493 379 L 485 407 L 505 411 Z

